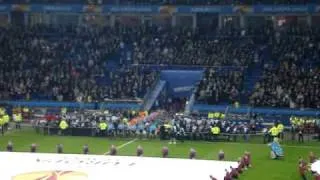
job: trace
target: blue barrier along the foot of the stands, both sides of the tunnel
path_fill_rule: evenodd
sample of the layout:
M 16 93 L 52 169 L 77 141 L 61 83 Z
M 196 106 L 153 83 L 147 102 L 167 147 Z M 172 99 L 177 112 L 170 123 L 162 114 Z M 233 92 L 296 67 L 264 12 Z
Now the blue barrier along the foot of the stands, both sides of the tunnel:
M 140 100 L 122 100 L 122 101 L 107 101 L 102 103 L 79 103 L 79 102 L 53 102 L 53 101 L 0 101 L 1 105 L 9 105 L 13 107 L 66 107 L 66 108 L 83 108 L 83 109 L 128 109 L 140 110 L 142 102 Z M 320 109 L 290 109 L 290 108 L 256 108 L 242 106 L 235 108 L 228 105 L 206 105 L 194 104 L 191 111 L 208 113 L 239 113 L 248 114 L 256 113 L 261 115 L 286 115 L 286 116 L 312 116 L 319 117 Z

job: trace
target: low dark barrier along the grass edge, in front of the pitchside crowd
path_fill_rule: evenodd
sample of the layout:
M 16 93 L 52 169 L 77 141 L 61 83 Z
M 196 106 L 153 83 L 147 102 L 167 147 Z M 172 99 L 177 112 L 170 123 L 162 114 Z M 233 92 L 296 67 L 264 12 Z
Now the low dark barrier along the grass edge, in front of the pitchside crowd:
M 135 130 L 106 130 L 100 131 L 98 128 L 78 128 L 72 127 L 64 131 L 61 131 L 58 127 L 50 126 L 35 126 L 34 127 L 38 134 L 42 135 L 61 135 L 61 136 L 91 136 L 91 137 L 117 137 L 117 138 L 139 138 L 139 139 L 155 139 L 170 140 L 170 135 L 165 133 L 140 133 Z M 272 141 L 272 137 L 269 134 L 262 132 L 256 133 L 220 133 L 217 136 L 213 136 L 210 132 L 185 132 L 183 136 L 176 136 L 177 141 L 184 142 L 185 140 L 191 141 L 208 141 L 208 142 L 250 142 L 266 144 Z M 281 138 L 282 142 L 296 142 L 298 141 L 298 134 L 286 131 Z M 320 141 L 319 134 L 304 134 L 302 142 L 310 142 L 313 140 Z

